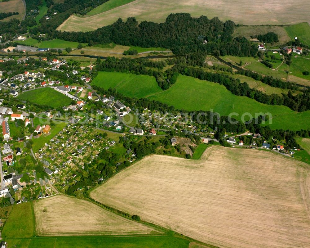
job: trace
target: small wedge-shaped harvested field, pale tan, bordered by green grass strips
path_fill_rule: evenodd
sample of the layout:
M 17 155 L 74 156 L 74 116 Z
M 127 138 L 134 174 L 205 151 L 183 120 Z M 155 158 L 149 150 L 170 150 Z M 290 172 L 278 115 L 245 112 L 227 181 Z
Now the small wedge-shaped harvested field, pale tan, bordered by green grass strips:
M 37 235 L 124 235 L 156 233 L 82 199 L 53 196 L 34 202 Z M 158 232 L 157 232 L 158 233 Z

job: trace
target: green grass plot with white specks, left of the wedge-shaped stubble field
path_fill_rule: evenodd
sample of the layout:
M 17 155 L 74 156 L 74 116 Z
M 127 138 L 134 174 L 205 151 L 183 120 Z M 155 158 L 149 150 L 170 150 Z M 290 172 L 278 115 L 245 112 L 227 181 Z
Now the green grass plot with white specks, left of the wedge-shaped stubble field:
M 14 205 L 7 219 L 2 238 L 28 238 L 34 234 L 35 219 L 32 208 L 32 202 L 20 203 Z

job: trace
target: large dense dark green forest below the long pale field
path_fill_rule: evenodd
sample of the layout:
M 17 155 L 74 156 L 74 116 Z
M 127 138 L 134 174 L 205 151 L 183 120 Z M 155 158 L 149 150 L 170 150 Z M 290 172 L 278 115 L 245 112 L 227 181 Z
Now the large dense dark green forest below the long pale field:
M 54 38 L 79 43 L 111 43 L 125 46 L 165 47 L 176 55 L 184 55 L 192 65 L 203 65 L 207 53 L 232 56 L 254 56 L 258 48 L 246 38 L 232 38 L 234 22 L 217 17 L 193 18 L 190 14 L 170 14 L 164 23 L 143 21 L 134 17 L 125 22 L 118 19 L 112 25 L 91 32 L 55 31 Z M 205 42 L 206 41 L 206 42 Z

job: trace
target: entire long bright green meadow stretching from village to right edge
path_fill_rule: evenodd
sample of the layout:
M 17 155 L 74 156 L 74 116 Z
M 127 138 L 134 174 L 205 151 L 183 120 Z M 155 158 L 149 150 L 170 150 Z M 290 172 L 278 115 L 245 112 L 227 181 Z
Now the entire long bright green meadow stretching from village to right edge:
M 98 74 L 93 82 L 104 89 L 116 88 L 129 97 L 161 101 L 176 109 L 206 111 L 213 109 L 221 115 L 235 113 L 232 117 L 239 120 L 244 113 L 250 113 L 253 117 L 255 113 L 270 113 L 272 115 L 270 126 L 273 129 L 307 129 L 310 123 L 310 111 L 299 113 L 286 106 L 259 103 L 248 97 L 233 95 L 218 83 L 183 75 L 179 75 L 177 82 L 166 91 L 157 86 L 153 77 L 145 75 L 104 72 Z M 265 125 L 267 124 L 269 123 Z

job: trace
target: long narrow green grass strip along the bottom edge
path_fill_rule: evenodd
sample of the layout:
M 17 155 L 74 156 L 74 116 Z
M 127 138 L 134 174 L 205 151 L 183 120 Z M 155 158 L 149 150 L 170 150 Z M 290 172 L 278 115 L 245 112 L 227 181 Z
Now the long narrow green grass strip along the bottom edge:
M 172 236 L 145 237 L 36 237 L 6 240 L 7 248 L 188 248 L 189 241 Z

